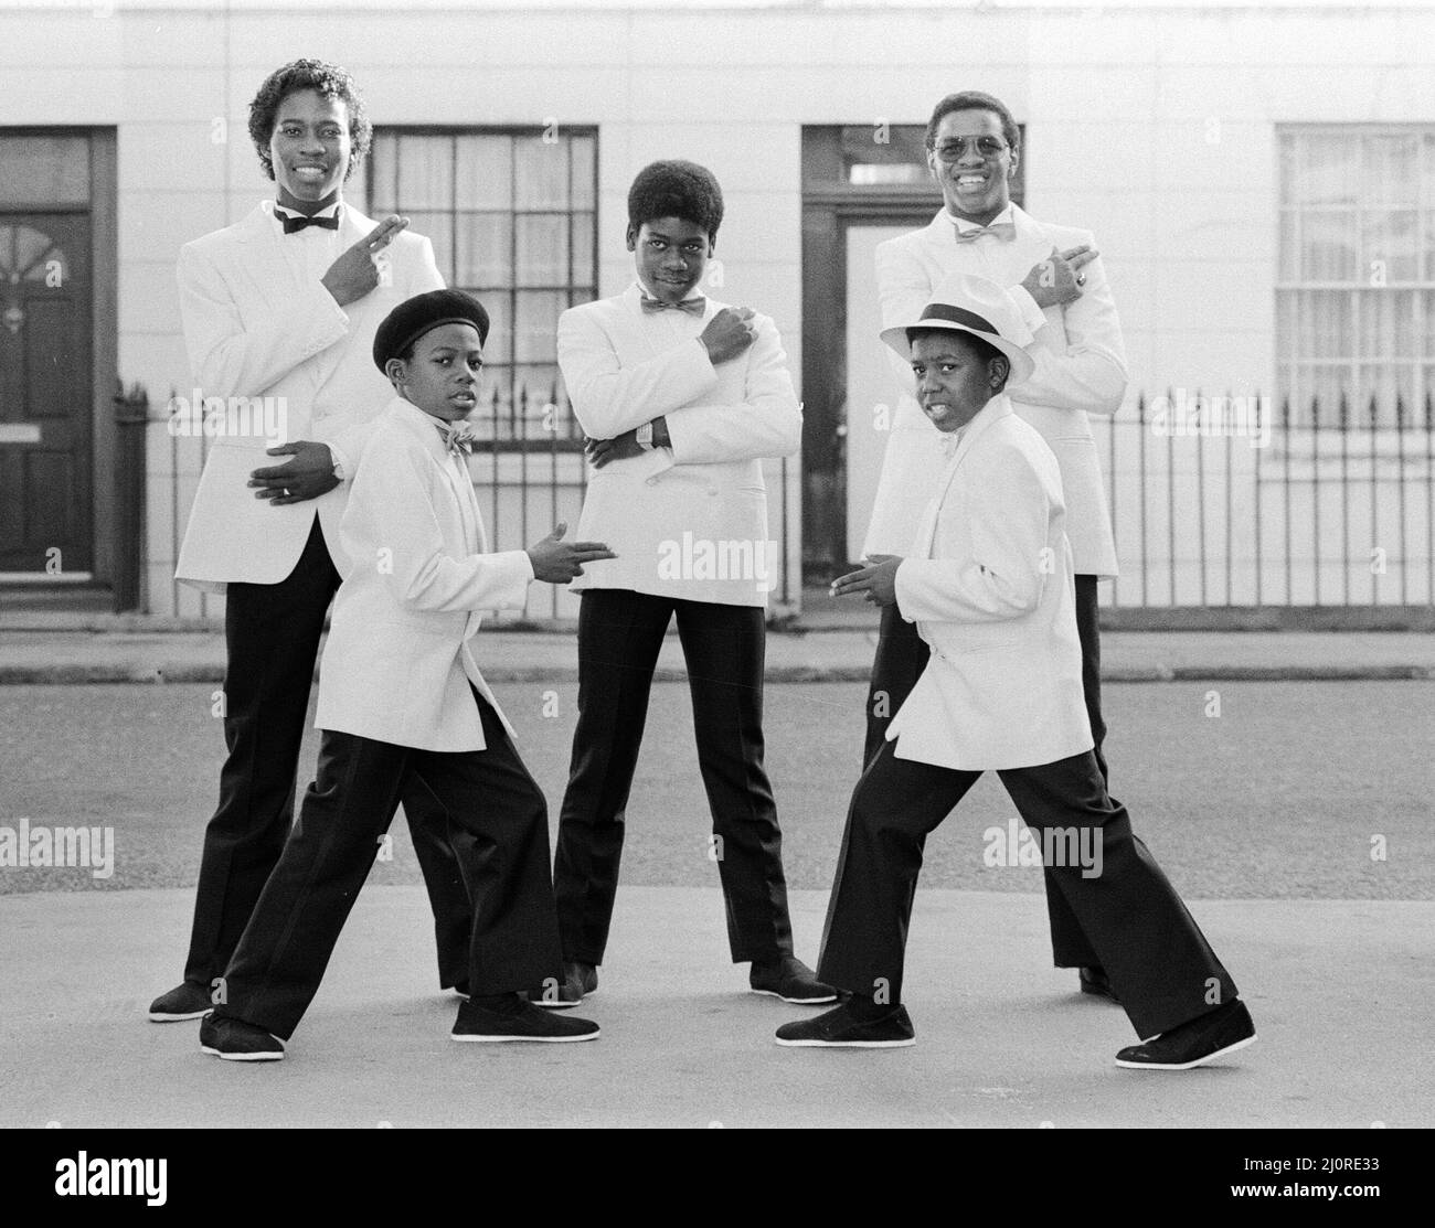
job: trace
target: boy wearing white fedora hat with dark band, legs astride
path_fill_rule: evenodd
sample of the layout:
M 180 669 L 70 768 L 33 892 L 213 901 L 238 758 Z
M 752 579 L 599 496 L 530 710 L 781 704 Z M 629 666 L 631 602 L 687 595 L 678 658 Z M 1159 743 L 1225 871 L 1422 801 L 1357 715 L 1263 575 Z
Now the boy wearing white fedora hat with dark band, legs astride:
M 901 984 L 923 845 L 996 770 L 1148 1037 L 1118 1064 L 1178 1070 L 1248 1044 L 1236 984 L 1092 750 L 1060 471 L 1004 393 L 1033 369 L 1030 334 L 999 285 L 959 275 L 883 340 L 911 363 L 950 459 L 910 557 L 880 557 L 832 587 L 895 601 L 931 660 L 848 808 L 818 976 L 852 997 L 778 1029 L 778 1043 L 914 1043 Z

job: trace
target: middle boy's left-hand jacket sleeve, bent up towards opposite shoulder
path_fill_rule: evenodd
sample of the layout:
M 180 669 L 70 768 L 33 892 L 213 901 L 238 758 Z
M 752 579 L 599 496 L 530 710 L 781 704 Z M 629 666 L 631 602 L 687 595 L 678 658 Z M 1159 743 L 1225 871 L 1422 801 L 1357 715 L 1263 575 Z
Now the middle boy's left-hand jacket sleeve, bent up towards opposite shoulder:
M 558 367 L 573 415 L 590 439 L 613 439 L 692 405 L 718 383 L 707 350 L 695 337 L 647 362 L 621 366 L 596 313 L 558 317 Z

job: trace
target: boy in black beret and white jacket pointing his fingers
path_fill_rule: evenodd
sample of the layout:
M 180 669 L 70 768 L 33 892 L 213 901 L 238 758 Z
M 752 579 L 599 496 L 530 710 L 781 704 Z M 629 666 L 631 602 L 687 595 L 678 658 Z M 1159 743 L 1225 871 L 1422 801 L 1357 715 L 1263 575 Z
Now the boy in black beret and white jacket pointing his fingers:
M 347 562 L 319 683 L 317 779 L 201 1024 L 207 1053 L 284 1056 L 399 799 L 426 788 L 458 835 L 474 904 L 455 1040 L 591 1040 L 597 1024 L 522 991 L 561 970 L 548 811 L 474 653 L 482 610 L 613 558 L 564 542 L 489 554 L 459 426 L 476 405 L 488 316 L 456 290 L 416 296 L 379 327 L 373 360 L 397 396 L 380 415 L 340 526 Z

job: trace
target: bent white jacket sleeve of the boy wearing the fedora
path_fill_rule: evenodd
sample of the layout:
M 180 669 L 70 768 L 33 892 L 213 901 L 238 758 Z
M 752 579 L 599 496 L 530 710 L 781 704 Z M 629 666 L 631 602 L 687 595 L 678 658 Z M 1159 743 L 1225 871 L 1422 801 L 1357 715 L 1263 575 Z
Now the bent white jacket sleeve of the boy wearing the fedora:
M 982 463 L 987 493 L 967 496 L 982 508 L 970 525 L 971 557 L 905 558 L 897 567 L 897 608 L 908 623 L 1000 623 L 1042 601 L 1055 562 L 1046 488 L 1019 448 L 1004 446 Z

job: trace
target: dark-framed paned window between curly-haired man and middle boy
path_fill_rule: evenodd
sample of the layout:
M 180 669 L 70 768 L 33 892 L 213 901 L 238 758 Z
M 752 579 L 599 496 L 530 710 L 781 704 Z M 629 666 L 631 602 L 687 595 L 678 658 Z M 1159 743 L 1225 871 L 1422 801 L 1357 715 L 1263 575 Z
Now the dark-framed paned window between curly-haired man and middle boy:
M 375 131 L 369 211 L 403 214 L 492 321 L 472 423 L 498 446 L 578 446 L 558 316 L 597 297 L 594 129 Z

